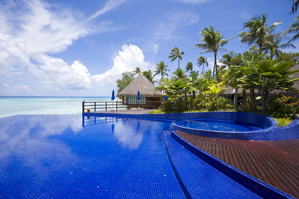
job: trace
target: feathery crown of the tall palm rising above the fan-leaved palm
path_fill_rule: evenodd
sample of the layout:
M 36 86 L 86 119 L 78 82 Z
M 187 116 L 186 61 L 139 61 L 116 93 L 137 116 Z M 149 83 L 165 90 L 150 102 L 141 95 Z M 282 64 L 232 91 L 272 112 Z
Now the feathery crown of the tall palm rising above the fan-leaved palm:
M 259 47 L 259 54 L 262 53 L 262 47 L 266 41 L 271 39 L 271 33 L 274 29 L 281 24 L 281 20 L 276 21 L 274 24 L 268 27 L 266 23 L 268 20 L 266 13 L 262 15 L 254 15 L 243 25 L 243 29 L 248 29 L 247 32 L 239 32 L 239 40 L 241 43 L 245 43 L 248 46 L 253 44 Z

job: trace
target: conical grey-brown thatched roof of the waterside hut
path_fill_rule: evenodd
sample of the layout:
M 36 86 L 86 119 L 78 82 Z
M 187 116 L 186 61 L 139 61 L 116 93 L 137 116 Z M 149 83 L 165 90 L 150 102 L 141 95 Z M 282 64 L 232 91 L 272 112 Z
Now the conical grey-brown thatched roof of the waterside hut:
M 138 75 L 129 85 L 126 86 L 119 94 L 119 97 L 164 97 L 161 91 L 157 91 L 153 85 L 143 74 Z

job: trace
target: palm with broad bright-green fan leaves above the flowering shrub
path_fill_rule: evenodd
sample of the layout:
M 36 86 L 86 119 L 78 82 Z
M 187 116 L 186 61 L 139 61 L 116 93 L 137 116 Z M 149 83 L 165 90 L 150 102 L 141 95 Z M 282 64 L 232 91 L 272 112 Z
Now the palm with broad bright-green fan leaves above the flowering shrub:
M 262 91 L 262 111 L 266 111 L 266 103 L 268 101 L 268 94 L 273 90 L 283 90 L 298 92 L 293 86 L 293 81 L 299 79 L 290 79 L 291 74 L 298 72 L 299 70 L 289 70 L 291 67 L 290 62 L 277 62 L 276 60 L 260 60 L 256 66 L 252 64 L 246 64 L 248 70 L 252 73 L 245 75 L 239 80 L 242 82 L 251 82 L 254 88 Z

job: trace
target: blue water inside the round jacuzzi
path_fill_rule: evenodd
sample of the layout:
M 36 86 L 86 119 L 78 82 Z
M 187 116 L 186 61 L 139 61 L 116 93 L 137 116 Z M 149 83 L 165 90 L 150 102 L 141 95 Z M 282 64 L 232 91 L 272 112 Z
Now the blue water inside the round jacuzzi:
M 238 121 L 227 120 L 215 120 L 215 119 L 189 119 L 184 120 L 185 127 L 203 129 L 203 130 L 215 130 L 215 131 L 254 131 L 263 129 L 260 126 Z

